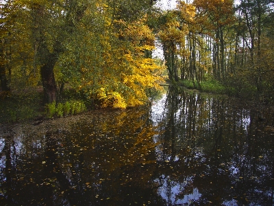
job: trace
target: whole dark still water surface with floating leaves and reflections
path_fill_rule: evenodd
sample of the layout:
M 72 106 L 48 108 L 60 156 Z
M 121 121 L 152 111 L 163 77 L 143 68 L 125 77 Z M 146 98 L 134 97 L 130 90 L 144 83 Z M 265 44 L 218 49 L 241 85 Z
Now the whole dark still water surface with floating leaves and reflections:
M 0 136 L 0 205 L 274 205 L 273 117 L 169 88 L 147 107 L 17 125 Z

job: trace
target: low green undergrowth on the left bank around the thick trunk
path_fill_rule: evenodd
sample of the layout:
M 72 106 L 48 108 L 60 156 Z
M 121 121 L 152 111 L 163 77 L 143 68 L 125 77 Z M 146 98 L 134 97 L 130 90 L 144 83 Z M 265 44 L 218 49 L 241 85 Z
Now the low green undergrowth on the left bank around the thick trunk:
M 13 91 L 9 95 L 1 95 L 0 91 L 0 124 L 23 122 L 45 117 L 63 117 L 86 111 L 86 104 L 82 100 L 72 100 L 75 91 L 66 91 L 62 102 L 43 106 L 43 93 L 38 89 L 24 92 Z

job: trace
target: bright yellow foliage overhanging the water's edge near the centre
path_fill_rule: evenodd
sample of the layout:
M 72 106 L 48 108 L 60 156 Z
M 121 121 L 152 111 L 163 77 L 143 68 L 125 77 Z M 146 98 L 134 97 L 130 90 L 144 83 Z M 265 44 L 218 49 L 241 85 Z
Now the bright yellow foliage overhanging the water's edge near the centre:
M 109 26 L 109 17 L 104 16 L 103 19 L 107 19 L 103 21 L 104 27 Z M 75 65 L 81 76 L 78 89 L 90 93 L 90 98 L 98 100 L 101 107 L 142 105 L 148 100 L 146 90 L 159 88 L 159 82 L 163 81 L 164 68 L 147 58 L 155 49 L 155 36 L 146 21 L 146 16 L 132 23 L 114 20 L 111 23 L 115 29 L 104 30 L 101 34 L 83 32 L 83 46 L 78 52 L 81 61 L 69 54 L 69 67 Z

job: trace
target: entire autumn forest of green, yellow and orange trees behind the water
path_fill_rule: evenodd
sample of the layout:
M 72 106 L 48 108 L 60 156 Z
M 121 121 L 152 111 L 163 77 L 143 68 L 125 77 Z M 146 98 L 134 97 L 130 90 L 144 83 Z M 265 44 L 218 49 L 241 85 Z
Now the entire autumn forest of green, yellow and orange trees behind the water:
M 59 116 L 73 105 L 139 106 L 165 81 L 273 101 L 274 1 L 186 0 L 172 10 L 157 3 L 1 1 L 1 113 L 32 113 L 35 98 L 49 116 L 58 106 Z M 153 57 L 155 44 L 164 59 Z M 10 98 L 25 108 L 14 112 Z

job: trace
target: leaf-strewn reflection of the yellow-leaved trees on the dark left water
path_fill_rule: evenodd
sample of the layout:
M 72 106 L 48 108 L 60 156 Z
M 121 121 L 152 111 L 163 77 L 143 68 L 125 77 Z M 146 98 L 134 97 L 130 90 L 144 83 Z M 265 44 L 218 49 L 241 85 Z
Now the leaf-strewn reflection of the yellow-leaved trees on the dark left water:
M 9 205 L 162 205 L 148 184 L 157 134 L 148 109 L 98 112 L 37 139 L 22 136 L 17 153 L 5 144 L 3 159 L 14 154 L 18 161 L 0 165 L 11 172 L 1 176 L 0 198 L 12 197 Z M 9 166 L 15 162 L 19 170 Z M 9 174 L 12 183 L 2 184 Z

